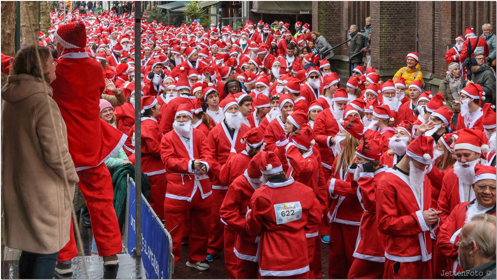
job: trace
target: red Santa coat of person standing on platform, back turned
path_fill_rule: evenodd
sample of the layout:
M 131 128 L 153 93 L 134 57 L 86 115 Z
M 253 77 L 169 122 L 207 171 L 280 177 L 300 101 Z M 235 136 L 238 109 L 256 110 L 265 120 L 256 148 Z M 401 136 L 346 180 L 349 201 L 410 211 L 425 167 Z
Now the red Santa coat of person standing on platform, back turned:
M 67 126 L 69 153 L 76 171 L 100 165 L 117 152 L 127 138 L 100 119 L 98 103 L 105 89 L 102 67 L 81 50 L 81 53 L 62 53 L 56 60 L 57 79 L 50 84 L 53 99 Z M 79 73 L 86 74 L 84 81 L 77 77 Z M 69 84 L 72 86 L 67 86 Z

